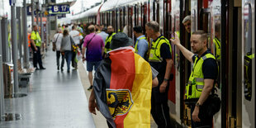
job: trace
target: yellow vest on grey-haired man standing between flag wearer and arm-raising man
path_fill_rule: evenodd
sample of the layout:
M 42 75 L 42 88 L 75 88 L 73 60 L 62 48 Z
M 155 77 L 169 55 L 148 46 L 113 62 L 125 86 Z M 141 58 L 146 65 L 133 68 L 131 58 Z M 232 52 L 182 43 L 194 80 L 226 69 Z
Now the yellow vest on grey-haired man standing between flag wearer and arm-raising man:
M 166 43 L 169 45 L 170 53 L 172 54 L 172 46 L 170 45 L 169 41 L 164 37 L 160 36 L 155 42 L 152 42 L 151 49 L 149 51 L 149 62 L 162 62 L 163 57 L 161 57 L 161 45 Z

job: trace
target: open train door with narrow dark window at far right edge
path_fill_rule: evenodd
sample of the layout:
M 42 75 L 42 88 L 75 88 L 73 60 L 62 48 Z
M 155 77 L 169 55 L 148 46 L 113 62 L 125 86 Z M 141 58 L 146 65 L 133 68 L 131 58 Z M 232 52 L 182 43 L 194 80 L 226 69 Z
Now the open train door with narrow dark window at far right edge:
M 255 127 L 255 0 L 242 2 L 242 127 Z

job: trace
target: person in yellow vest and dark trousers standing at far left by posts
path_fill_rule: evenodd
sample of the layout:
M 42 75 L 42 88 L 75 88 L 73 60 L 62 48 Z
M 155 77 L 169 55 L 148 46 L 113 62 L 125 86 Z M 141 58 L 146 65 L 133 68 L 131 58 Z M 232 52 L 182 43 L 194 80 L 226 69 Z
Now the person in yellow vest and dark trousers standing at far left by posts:
M 42 58 L 40 54 L 40 45 L 41 38 L 37 31 L 37 25 L 33 26 L 33 31 L 31 32 L 31 49 L 33 50 L 33 64 L 34 68 L 38 70 L 37 63 L 39 64 L 40 69 L 45 69 L 43 67 Z

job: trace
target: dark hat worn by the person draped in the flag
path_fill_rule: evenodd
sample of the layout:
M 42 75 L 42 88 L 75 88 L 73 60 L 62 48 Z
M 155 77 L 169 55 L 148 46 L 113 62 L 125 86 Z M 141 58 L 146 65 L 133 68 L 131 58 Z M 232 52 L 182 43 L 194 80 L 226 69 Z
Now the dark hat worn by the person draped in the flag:
M 132 46 L 132 44 L 133 40 L 126 33 L 118 32 L 112 37 L 110 48 L 115 50 L 120 47 Z

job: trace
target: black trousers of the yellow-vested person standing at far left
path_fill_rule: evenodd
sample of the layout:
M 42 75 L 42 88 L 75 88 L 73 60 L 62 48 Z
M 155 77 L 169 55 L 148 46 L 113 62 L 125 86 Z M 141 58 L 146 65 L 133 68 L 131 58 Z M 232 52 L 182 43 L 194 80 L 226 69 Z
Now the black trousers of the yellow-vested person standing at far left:
M 33 50 L 33 65 L 34 68 L 37 68 L 37 63 L 39 64 L 40 69 L 44 68 L 42 63 L 42 57 L 40 53 L 40 47 L 36 46 L 37 50 L 33 46 L 31 46 L 31 49 Z

